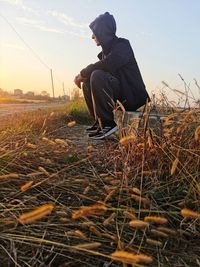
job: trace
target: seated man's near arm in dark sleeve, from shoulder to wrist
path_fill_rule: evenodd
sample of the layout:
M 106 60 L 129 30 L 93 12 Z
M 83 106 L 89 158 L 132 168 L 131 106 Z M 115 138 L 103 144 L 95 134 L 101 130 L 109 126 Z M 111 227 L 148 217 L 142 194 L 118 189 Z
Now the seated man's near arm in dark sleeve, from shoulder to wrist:
M 131 56 L 133 56 L 133 51 L 129 42 L 121 42 L 116 45 L 105 59 L 90 64 L 85 69 L 81 70 L 81 76 L 89 78 L 94 70 L 104 70 L 113 73 L 121 66 L 127 64 Z

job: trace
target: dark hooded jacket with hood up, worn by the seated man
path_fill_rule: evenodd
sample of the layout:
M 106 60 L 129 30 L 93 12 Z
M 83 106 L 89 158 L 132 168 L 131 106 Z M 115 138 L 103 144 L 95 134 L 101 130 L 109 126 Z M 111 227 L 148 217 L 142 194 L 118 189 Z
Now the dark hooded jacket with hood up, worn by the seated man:
M 120 82 L 119 100 L 125 109 L 138 109 L 149 100 L 149 96 L 129 41 L 115 35 L 116 22 L 108 12 L 97 17 L 90 24 L 90 28 L 97 37 L 102 52 L 98 55 L 100 60 L 83 69 L 81 75 L 90 78 L 94 70 L 111 73 Z

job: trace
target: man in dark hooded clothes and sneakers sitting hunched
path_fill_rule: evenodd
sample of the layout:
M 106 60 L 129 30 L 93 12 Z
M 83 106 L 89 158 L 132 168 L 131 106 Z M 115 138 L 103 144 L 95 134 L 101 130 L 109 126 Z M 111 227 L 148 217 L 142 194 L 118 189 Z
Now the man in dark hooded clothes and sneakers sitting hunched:
M 128 40 L 116 36 L 114 17 L 106 12 L 90 25 L 92 39 L 102 47 L 99 61 L 81 70 L 74 82 L 95 123 L 86 131 L 93 139 L 104 139 L 117 131 L 113 108 L 119 100 L 127 111 L 135 111 L 149 100 L 140 70 Z

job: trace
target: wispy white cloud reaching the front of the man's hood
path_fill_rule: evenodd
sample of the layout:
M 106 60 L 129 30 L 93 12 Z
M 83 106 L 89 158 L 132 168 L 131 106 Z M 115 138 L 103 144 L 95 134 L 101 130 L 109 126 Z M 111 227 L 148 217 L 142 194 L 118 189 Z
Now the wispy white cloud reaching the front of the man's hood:
M 78 23 L 74 18 L 55 10 L 50 10 L 47 14 L 64 24 L 66 26 L 65 32 L 78 37 L 89 38 L 89 28 L 87 23 Z

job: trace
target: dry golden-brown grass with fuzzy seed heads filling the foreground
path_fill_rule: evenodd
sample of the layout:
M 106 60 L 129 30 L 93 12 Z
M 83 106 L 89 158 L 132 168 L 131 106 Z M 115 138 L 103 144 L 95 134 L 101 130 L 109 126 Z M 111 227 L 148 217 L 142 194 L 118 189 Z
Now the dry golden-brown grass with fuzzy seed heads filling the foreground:
M 200 266 L 200 110 L 148 114 L 99 142 L 83 103 L 1 119 L 0 266 Z

